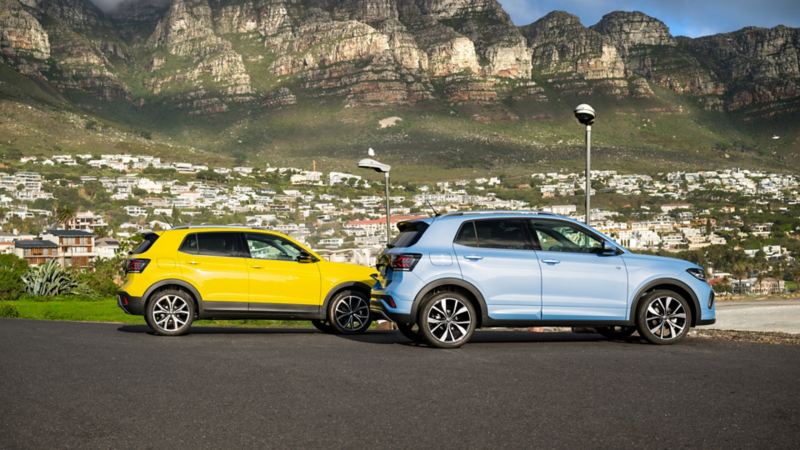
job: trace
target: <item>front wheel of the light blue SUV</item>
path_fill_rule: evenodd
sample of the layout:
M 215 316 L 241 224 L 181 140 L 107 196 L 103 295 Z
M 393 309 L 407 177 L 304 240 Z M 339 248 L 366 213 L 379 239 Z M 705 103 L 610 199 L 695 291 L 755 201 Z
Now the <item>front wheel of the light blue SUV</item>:
M 639 301 L 636 326 L 639 336 L 651 344 L 674 344 L 689 333 L 692 310 L 689 302 L 676 292 L 653 291 Z

